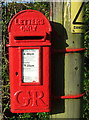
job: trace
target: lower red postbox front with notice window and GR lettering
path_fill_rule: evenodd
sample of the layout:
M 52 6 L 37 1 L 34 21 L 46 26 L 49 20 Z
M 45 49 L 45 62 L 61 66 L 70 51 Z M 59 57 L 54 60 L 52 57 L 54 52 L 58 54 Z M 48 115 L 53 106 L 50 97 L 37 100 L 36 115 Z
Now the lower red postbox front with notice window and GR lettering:
M 50 111 L 50 48 L 10 47 L 11 111 Z

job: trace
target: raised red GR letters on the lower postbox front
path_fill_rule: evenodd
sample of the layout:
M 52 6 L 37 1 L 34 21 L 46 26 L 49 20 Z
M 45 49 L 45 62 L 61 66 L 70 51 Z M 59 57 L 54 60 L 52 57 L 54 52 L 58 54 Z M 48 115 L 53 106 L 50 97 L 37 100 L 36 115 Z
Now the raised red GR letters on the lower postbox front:
M 46 106 L 46 103 L 43 100 L 44 93 L 40 90 L 31 90 L 31 91 L 17 91 L 14 94 L 18 106 Z M 21 100 L 22 99 L 22 100 Z

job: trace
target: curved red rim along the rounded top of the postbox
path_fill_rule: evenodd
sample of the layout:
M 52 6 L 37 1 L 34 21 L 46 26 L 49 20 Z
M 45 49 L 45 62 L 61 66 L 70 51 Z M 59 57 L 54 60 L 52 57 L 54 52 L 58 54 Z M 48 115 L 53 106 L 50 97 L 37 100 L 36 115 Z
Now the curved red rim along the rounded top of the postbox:
M 24 12 L 35 12 L 35 13 L 39 13 L 39 14 L 41 14 L 41 15 L 48 21 L 48 19 L 46 18 L 46 16 L 45 16 L 43 13 L 41 13 L 40 11 L 32 10 L 32 9 L 22 10 L 22 11 L 16 13 L 16 14 L 12 17 L 12 19 L 10 20 L 9 25 L 8 25 L 8 32 L 10 32 L 11 25 L 12 25 L 14 19 L 15 19 L 18 15 L 20 15 L 20 14 L 22 14 L 22 13 L 24 13 Z M 52 28 L 51 28 L 50 22 L 49 22 L 49 26 L 50 26 L 49 32 L 51 32 L 51 31 L 52 31 Z

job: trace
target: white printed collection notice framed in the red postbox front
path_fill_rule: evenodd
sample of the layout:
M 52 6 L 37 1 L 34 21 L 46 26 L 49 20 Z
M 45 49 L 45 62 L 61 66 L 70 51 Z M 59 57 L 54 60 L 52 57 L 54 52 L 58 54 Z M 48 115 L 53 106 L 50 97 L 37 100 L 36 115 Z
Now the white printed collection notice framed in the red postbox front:
M 39 82 L 39 49 L 24 49 L 22 60 L 23 82 Z

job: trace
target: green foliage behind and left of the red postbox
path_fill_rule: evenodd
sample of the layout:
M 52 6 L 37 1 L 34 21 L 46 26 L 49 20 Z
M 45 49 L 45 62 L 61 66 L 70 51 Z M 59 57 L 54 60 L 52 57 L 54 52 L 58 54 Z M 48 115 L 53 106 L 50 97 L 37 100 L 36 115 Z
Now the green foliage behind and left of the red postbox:
M 48 120 L 48 113 L 11 113 L 10 112 L 10 82 L 8 70 L 8 24 L 11 18 L 19 11 L 34 9 L 42 12 L 47 18 L 49 17 L 49 3 L 5 3 L 2 4 L 2 79 L 3 79 L 3 119 L 4 120 Z

